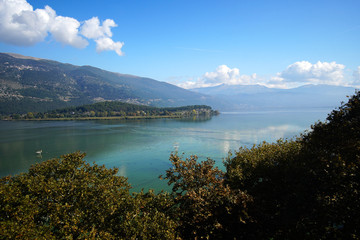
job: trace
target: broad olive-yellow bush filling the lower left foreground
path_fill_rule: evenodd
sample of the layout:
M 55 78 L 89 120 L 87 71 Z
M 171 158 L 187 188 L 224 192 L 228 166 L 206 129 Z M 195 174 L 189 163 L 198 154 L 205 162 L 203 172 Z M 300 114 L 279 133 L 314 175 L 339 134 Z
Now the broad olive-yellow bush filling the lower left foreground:
M 168 194 L 132 196 L 117 169 L 85 163 L 81 153 L 1 179 L 0 236 L 7 239 L 172 239 Z

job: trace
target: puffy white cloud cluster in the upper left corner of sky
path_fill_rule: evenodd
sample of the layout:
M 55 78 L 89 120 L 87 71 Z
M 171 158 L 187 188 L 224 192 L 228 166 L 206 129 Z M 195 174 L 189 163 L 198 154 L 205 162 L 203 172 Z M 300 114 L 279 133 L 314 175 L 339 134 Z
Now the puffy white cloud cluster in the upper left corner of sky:
M 122 55 L 123 43 L 110 39 L 111 27 L 116 26 L 111 19 L 100 25 L 93 17 L 81 24 L 75 18 L 57 16 L 49 6 L 34 10 L 26 0 L 0 0 L 0 41 L 8 44 L 31 46 L 51 34 L 56 41 L 77 48 L 88 45 L 85 38 L 94 39 L 98 52 L 113 50 Z

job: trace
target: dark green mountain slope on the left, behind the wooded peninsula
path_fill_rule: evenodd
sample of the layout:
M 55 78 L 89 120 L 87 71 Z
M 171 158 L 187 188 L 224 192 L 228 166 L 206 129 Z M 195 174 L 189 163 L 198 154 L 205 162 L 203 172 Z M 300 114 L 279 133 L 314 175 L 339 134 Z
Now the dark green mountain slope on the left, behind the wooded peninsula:
M 211 96 L 150 78 L 0 53 L 0 114 L 118 100 L 158 107 L 211 105 Z

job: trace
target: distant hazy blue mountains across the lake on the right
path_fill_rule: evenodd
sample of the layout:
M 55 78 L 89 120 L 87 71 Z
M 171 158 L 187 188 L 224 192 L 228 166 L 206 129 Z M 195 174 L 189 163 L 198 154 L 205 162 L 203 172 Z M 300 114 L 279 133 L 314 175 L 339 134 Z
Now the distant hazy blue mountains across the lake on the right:
M 222 111 L 263 111 L 309 108 L 335 108 L 355 88 L 332 85 L 305 85 L 292 89 L 267 88 L 261 85 L 219 85 L 192 91 L 221 99 Z

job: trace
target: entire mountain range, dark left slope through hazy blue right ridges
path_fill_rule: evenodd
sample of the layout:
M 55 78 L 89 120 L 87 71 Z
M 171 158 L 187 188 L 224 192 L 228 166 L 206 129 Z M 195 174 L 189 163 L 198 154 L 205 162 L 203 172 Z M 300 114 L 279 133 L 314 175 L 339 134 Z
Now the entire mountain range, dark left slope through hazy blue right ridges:
M 45 112 L 102 101 L 156 107 L 209 105 L 220 111 L 335 108 L 355 88 L 226 85 L 186 90 L 146 77 L 0 53 L 0 114 Z

